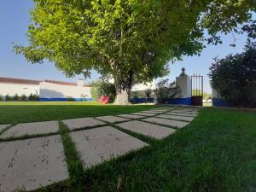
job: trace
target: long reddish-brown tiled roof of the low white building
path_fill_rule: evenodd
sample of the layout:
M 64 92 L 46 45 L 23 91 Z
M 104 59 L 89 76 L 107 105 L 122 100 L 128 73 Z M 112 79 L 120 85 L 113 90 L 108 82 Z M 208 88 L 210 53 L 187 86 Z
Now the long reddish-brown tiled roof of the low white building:
M 33 79 L 15 79 L 15 78 L 5 78 L 0 77 L 0 84 L 30 84 L 30 85 L 39 85 L 41 82 L 47 82 L 50 84 L 61 84 L 69 86 L 78 86 L 75 82 L 65 82 L 65 81 L 55 81 L 55 80 L 33 80 Z M 90 86 L 89 84 L 84 84 L 84 87 Z

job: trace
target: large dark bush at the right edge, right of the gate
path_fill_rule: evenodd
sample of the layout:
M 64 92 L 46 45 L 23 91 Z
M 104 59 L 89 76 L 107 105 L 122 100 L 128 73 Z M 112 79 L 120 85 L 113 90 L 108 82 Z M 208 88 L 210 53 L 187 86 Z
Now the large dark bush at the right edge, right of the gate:
M 256 108 L 256 43 L 247 42 L 244 52 L 215 58 L 208 74 L 212 88 L 234 107 Z

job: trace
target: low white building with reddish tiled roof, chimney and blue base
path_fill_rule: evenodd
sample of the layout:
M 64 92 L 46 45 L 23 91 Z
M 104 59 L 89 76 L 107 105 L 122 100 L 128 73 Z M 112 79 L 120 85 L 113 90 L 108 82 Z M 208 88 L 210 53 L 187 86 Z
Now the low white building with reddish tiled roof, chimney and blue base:
M 53 80 L 13 79 L 0 77 L 0 96 L 38 95 L 41 101 L 90 101 L 90 86 L 83 79 L 77 83 Z

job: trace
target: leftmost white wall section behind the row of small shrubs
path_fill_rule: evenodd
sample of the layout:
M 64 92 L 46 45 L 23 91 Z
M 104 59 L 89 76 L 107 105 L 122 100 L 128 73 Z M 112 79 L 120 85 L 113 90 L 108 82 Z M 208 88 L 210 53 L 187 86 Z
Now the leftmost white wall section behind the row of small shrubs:
M 26 95 L 30 94 L 39 95 L 39 85 L 37 84 L 1 84 L 0 83 L 0 95 L 6 96 L 15 96 L 15 94 Z

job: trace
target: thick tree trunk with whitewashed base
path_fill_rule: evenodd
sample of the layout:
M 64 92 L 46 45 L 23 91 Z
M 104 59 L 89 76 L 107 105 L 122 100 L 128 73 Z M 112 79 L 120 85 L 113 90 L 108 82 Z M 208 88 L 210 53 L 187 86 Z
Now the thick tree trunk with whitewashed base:
M 114 79 L 114 84 L 116 88 L 116 97 L 114 104 L 116 105 L 131 105 L 129 102 L 129 95 L 131 92 L 131 86 L 133 82 L 134 72 L 132 70 L 128 71 L 128 74 L 120 74 Z

